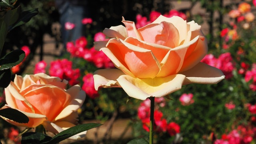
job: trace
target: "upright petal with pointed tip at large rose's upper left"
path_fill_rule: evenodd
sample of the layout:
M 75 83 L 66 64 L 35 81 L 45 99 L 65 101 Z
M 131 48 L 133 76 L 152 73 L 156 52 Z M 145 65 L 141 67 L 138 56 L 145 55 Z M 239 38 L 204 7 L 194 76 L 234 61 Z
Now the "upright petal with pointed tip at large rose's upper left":
M 142 36 L 138 32 L 134 22 L 126 21 L 126 20 L 124 20 L 124 18 L 123 18 L 122 22 L 124 23 L 124 25 L 126 27 L 127 37 L 134 37 L 134 38 L 137 38 L 139 40 L 142 40 Z

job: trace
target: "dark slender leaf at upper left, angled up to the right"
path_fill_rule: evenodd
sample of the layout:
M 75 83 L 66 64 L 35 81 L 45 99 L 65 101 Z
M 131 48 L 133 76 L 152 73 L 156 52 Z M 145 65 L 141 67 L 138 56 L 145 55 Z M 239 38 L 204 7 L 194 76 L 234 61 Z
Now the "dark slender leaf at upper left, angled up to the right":
M 33 16 L 36 16 L 37 14 L 38 14 L 38 8 L 21 12 L 20 19 L 18 19 L 18 21 L 9 28 L 9 31 L 16 28 L 17 26 L 21 26 L 26 22 L 30 21 L 30 19 Z

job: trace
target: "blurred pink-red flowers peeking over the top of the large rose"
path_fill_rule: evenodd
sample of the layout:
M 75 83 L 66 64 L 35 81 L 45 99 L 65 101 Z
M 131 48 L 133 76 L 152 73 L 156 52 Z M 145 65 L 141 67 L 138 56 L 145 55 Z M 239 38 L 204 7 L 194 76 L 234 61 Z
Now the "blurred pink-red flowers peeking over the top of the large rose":
M 160 15 L 161 15 L 160 12 L 151 11 L 149 15 L 149 21 L 148 21 L 148 19 L 145 16 L 138 14 L 136 16 L 136 24 L 135 24 L 136 28 L 142 28 L 143 26 L 146 26 L 154 22 Z M 177 10 L 170 10 L 168 13 L 164 14 L 163 16 L 167 18 L 171 18 L 172 16 L 179 16 L 184 20 L 187 19 L 186 14 L 184 14 L 183 12 L 178 12 Z

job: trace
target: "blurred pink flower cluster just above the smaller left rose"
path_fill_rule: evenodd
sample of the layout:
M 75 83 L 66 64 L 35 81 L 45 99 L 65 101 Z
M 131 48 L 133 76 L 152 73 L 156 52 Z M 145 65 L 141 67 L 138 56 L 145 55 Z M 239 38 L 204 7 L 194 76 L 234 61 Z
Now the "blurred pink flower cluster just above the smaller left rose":
M 78 84 L 78 78 L 80 77 L 80 70 L 72 69 L 72 62 L 67 59 L 55 60 L 50 63 L 49 69 L 50 76 L 56 76 L 62 80 L 68 80 L 71 86 Z

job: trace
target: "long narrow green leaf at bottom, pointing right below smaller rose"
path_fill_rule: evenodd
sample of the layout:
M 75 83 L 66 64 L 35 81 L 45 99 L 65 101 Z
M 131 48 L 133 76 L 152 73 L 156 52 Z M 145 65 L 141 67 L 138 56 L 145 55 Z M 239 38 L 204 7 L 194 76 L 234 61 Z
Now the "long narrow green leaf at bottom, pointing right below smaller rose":
M 48 144 L 56 144 L 56 143 L 61 142 L 62 140 L 65 140 L 71 136 L 79 134 L 80 132 L 84 132 L 86 130 L 96 128 L 101 125 L 102 124 L 90 123 L 90 124 L 80 124 L 77 126 L 73 126 L 71 128 L 63 130 L 62 132 L 56 134 L 56 136 L 54 136 Z

